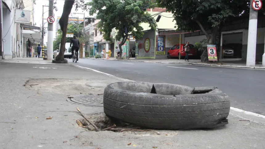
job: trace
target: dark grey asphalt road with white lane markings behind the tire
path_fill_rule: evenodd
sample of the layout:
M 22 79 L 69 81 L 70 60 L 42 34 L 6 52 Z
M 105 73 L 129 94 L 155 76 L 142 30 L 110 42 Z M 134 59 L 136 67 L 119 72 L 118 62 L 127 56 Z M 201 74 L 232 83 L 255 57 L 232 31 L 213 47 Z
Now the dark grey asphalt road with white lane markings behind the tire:
M 265 114 L 265 70 L 103 59 L 79 59 L 77 63 L 68 61 L 133 81 L 190 87 L 216 86 L 230 97 L 231 107 Z

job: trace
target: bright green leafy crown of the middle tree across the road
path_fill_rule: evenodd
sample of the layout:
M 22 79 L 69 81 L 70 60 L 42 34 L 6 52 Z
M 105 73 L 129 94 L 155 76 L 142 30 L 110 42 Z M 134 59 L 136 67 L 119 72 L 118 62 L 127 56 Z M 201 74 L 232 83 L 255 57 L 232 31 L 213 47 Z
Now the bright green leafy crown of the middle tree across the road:
M 146 11 L 151 3 L 151 0 L 92 0 L 87 6 L 90 7 L 90 15 L 97 14 L 96 18 L 100 19 L 98 28 L 104 33 L 104 39 L 111 41 L 112 29 L 116 30 L 115 38 L 118 41 L 121 40 L 119 44 L 121 50 L 129 33 L 132 33 L 136 39 L 143 36 L 141 23 L 149 23 L 151 29 L 156 29 L 155 20 Z M 86 6 L 80 7 L 84 10 Z

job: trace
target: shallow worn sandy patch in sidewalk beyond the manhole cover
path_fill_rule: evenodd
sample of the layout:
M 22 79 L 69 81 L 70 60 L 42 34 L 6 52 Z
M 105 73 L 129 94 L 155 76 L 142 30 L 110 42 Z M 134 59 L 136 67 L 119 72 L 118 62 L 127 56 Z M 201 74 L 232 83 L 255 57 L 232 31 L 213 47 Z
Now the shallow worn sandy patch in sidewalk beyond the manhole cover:
M 107 83 L 105 80 L 86 79 L 30 79 L 23 86 L 30 90 L 62 93 L 72 96 L 102 94 Z

